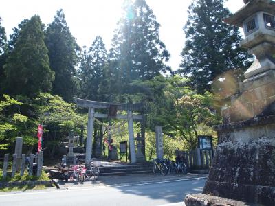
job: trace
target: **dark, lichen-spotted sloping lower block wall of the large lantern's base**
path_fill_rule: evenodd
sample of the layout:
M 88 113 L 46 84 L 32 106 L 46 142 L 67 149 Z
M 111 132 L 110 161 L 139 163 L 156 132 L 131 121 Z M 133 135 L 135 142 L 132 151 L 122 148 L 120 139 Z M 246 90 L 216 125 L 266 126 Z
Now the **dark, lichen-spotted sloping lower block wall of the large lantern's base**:
M 219 144 L 203 194 L 275 205 L 274 118 L 219 126 Z

